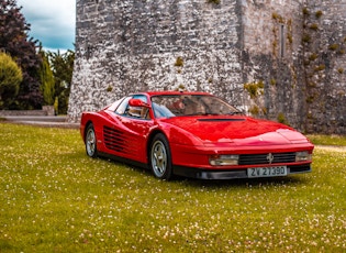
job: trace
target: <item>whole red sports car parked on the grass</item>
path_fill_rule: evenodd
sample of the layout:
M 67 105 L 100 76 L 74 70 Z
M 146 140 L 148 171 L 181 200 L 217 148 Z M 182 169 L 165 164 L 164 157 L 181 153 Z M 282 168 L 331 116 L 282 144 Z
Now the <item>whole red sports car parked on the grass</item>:
M 314 148 L 293 129 L 246 117 L 207 92 L 133 94 L 83 112 L 80 133 L 89 156 L 145 166 L 161 179 L 308 173 Z

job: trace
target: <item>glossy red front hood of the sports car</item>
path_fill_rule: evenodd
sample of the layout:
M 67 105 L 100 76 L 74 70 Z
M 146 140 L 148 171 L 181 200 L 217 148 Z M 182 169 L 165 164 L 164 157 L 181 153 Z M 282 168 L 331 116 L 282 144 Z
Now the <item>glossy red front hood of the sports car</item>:
M 248 117 L 175 117 L 165 121 L 192 133 L 204 144 L 281 145 L 308 142 L 301 133 L 287 125 Z

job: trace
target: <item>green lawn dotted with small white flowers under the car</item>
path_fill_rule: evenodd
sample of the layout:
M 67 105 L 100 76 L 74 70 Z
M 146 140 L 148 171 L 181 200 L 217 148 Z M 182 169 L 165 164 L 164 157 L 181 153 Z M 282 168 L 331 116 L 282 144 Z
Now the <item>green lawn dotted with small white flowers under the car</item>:
M 0 123 L 0 154 L 1 253 L 346 251 L 342 148 L 316 147 L 311 174 L 222 182 L 89 158 L 78 130 Z

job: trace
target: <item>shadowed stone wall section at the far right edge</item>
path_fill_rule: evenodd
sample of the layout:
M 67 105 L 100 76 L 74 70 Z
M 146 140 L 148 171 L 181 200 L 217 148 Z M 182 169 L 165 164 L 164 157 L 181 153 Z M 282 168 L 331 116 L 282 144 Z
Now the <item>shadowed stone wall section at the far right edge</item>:
M 314 1 L 305 15 L 310 132 L 346 133 L 346 2 Z

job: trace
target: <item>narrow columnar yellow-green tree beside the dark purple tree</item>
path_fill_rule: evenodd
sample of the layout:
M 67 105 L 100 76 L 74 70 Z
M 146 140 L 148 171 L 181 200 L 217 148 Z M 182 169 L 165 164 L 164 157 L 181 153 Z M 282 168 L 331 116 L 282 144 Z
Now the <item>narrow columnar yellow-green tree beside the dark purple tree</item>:
M 40 68 L 41 91 L 43 94 L 44 105 L 53 106 L 55 102 L 55 80 L 51 69 L 47 53 L 42 48 L 40 50 L 42 57 L 42 65 Z

